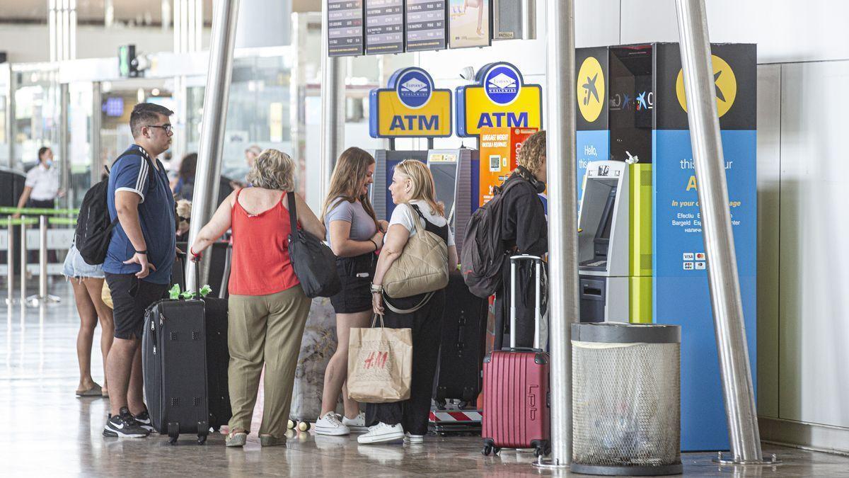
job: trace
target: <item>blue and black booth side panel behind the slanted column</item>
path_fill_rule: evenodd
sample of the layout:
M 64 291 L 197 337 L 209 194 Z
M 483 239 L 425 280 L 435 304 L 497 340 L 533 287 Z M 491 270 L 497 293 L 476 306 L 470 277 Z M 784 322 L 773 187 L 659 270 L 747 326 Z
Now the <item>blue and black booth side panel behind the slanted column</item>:
M 719 361 L 701 230 L 698 181 L 677 43 L 651 45 L 654 171 L 654 320 L 682 326 L 681 444 L 728 449 Z M 756 383 L 756 45 L 711 45 L 752 381 Z

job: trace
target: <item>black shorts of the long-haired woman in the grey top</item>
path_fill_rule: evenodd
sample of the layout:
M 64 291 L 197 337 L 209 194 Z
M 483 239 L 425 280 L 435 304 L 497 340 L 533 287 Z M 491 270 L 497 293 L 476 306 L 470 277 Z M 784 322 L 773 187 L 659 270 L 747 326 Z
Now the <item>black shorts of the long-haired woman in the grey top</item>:
M 371 310 L 371 282 L 377 260 L 374 253 L 336 259 L 342 290 L 330 298 L 337 314 L 356 314 Z

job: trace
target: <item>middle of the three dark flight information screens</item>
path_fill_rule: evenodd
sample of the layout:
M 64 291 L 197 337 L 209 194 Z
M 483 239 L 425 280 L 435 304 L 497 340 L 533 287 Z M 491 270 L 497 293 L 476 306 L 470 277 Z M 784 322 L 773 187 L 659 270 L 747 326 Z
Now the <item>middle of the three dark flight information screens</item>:
M 404 52 L 404 1 L 366 0 L 366 54 Z

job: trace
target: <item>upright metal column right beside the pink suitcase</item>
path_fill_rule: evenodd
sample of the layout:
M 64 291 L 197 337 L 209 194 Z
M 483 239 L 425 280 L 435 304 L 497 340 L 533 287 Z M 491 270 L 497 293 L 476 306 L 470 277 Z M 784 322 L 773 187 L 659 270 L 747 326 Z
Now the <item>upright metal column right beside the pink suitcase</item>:
M 551 336 L 551 457 L 571 462 L 572 345 L 577 322 L 578 263 L 575 166 L 575 3 L 546 4 L 548 158 L 548 333 Z

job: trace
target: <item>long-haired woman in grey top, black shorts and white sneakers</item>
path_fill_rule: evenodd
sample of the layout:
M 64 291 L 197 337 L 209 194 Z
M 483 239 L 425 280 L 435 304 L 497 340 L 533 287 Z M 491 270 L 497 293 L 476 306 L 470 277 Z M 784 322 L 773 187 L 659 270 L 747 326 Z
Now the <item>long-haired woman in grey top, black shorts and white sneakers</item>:
M 376 264 L 375 251 L 383 246 L 386 221 L 374 216 L 368 201 L 368 185 L 374 181 L 374 157 L 359 148 L 343 151 L 324 200 L 322 220 L 327 242 L 336 254 L 336 268 L 342 282 L 340 293 L 330 298 L 336 312 L 339 344 L 324 373 L 322 409 L 315 431 L 321 435 L 348 435 L 351 429 L 365 430 L 365 416 L 359 404 L 344 390 L 348 374 L 348 337 L 351 327 L 368 327 L 371 318 L 371 287 Z M 345 416 L 336 415 L 336 402 L 342 391 Z

